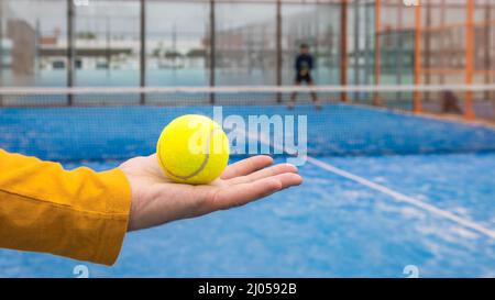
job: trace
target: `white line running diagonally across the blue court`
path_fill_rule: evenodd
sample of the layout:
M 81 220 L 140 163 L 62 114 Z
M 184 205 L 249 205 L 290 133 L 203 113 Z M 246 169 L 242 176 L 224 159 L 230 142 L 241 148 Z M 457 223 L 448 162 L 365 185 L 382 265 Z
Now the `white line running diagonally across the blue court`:
M 250 138 L 257 140 L 257 136 L 253 136 L 252 134 L 249 134 L 249 133 L 246 135 Z M 270 140 L 266 138 L 266 136 L 264 136 L 264 135 L 261 135 L 260 142 L 262 142 L 264 144 L 267 144 L 267 145 L 271 145 Z M 273 147 L 277 148 L 278 151 L 282 151 L 283 153 L 286 152 L 286 151 L 284 151 L 284 147 L 280 146 L 280 145 L 273 145 Z M 287 149 L 287 151 L 294 153 L 294 151 L 292 151 L 292 149 Z M 464 227 L 471 229 L 473 231 L 476 231 L 479 233 L 482 233 L 482 234 L 484 234 L 484 235 L 495 240 L 495 231 L 493 231 L 491 229 L 487 229 L 487 227 L 485 227 L 485 226 L 483 226 L 483 225 L 481 225 L 481 224 L 479 224 L 479 223 L 476 223 L 474 221 L 471 221 L 469 219 L 464 219 L 464 218 L 459 216 L 459 215 L 457 215 L 457 214 L 454 214 L 454 213 L 452 213 L 450 211 L 439 209 L 439 208 L 437 208 L 437 207 L 435 207 L 432 204 L 426 203 L 426 202 L 424 202 L 421 200 L 418 200 L 418 199 L 415 199 L 413 197 L 403 195 L 403 193 L 400 193 L 398 191 L 395 191 L 393 189 L 389 189 L 389 188 L 387 188 L 385 186 L 382 186 L 382 185 L 375 184 L 375 182 L 373 182 L 371 180 L 367 180 L 367 179 L 365 179 L 365 178 L 363 178 L 361 176 L 358 176 L 358 175 L 354 175 L 352 173 L 349 173 L 349 171 L 345 171 L 343 169 L 340 169 L 338 167 L 334 167 L 334 166 L 332 166 L 330 164 L 327 164 L 327 163 L 324 163 L 324 162 L 322 162 L 320 159 L 307 156 L 307 162 L 312 164 L 312 165 L 315 165 L 315 166 L 317 166 L 317 167 L 320 167 L 320 168 L 322 168 L 324 170 L 328 170 L 328 171 L 331 171 L 331 173 L 333 173 L 336 175 L 339 175 L 339 176 L 341 176 L 343 178 L 346 178 L 346 179 L 352 180 L 354 182 L 361 184 L 361 185 L 363 185 L 363 186 L 365 186 L 365 187 L 367 187 L 370 189 L 373 189 L 373 190 L 380 191 L 382 193 L 385 193 L 387 196 L 391 196 L 396 201 L 408 203 L 410 205 L 414 205 L 414 207 L 419 208 L 421 210 L 428 211 L 428 212 L 430 212 L 430 213 L 432 213 L 435 215 L 438 215 L 440 218 L 448 219 L 448 220 L 450 220 L 450 221 L 452 221 L 454 223 L 458 223 L 458 224 L 460 224 L 460 225 L 462 225 Z

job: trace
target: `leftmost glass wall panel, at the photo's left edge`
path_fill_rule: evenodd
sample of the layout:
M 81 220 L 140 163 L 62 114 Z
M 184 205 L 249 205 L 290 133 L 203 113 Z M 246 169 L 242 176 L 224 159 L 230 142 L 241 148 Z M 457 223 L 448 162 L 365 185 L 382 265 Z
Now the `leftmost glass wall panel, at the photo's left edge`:
M 0 86 L 66 85 L 66 1 L 0 1 Z

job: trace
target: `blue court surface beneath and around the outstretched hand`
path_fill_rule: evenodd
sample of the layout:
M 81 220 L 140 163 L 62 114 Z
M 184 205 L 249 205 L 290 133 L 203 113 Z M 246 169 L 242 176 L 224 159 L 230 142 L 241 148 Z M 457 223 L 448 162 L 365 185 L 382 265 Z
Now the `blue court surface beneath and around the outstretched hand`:
M 0 147 L 103 170 L 153 153 L 184 113 L 212 108 L 2 109 Z M 307 115 L 305 184 L 130 233 L 113 267 L 0 251 L 0 276 L 75 277 L 82 264 L 91 277 L 495 277 L 495 130 L 340 104 L 223 114 Z

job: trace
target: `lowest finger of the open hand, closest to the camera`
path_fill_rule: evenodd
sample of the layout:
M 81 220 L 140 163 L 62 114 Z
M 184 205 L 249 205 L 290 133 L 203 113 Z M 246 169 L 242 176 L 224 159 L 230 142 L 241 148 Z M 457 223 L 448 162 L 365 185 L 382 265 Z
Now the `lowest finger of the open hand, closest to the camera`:
M 213 195 L 215 210 L 224 210 L 246 204 L 285 188 L 300 185 L 302 178 L 294 173 L 262 178 L 250 184 L 239 184 L 221 188 Z

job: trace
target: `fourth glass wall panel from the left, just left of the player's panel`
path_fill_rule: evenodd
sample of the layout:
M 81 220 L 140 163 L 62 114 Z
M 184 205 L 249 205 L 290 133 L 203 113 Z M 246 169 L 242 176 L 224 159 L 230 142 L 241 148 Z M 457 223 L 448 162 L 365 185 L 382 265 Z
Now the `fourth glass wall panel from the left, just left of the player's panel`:
M 275 85 L 276 3 L 216 4 L 217 85 Z

